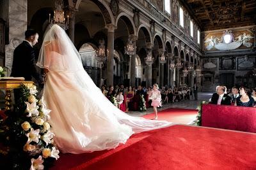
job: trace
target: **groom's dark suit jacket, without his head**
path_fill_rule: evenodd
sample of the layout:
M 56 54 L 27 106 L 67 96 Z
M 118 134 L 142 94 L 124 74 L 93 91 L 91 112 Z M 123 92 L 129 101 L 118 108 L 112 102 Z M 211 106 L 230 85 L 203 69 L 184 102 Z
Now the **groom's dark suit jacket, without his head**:
M 13 52 L 13 64 L 11 76 L 24 77 L 26 81 L 32 80 L 32 76 L 42 83 L 42 77 L 36 72 L 35 50 L 27 42 L 23 41 Z

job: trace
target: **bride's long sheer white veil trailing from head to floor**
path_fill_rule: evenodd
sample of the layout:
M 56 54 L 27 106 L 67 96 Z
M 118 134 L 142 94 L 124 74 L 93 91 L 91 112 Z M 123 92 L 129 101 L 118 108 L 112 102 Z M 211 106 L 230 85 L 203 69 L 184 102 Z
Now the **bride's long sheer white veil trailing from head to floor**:
M 56 52 L 61 55 L 61 67 L 54 67 L 54 60 L 51 59 L 49 53 Z M 54 55 L 55 56 L 55 55 Z M 84 71 L 81 63 L 81 57 L 77 52 L 72 41 L 68 38 L 66 32 L 59 25 L 53 25 L 45 34 L 44 42 L 40 50 L 38 62 L 39 67 L 47 68 L 49 71 L 67 71 L 76 72 L 74 77 L 70 78 L 76 83 L 81 93 L 86 93 L 87 103 L 92 103 L 92 107 L 104 108 L 104 112 L 108 113 L 109 117 L 115 118 L 120 124 L 129 125 L 134 132 L 150 131 L 172 125 L 170 122 L 159 120 L 147 120 L 140 117 L 131 117 L 123 111 L 116 108 L 95 85 L 90 76 Z M 78 100 L 79 101 L 79 100 Z M 51 109 L 51 108 L 50 108 Z M 93 110 L 93 108 L 92 108 Z M 99 114 L 96 113 L 95 114 Z

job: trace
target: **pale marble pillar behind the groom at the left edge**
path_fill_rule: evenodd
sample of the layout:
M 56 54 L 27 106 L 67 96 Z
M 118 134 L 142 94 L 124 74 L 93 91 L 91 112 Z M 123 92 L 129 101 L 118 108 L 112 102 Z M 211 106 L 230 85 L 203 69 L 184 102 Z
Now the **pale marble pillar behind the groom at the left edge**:
M 28 1 L 9 0 L 6 10 L 8 10 L 10 42 L 5 46 L 5 66 L 8 68 L 6 76 L 9 76 L 12 70 L 13 51 L 25 38 L 24 33 L 28 25 Z

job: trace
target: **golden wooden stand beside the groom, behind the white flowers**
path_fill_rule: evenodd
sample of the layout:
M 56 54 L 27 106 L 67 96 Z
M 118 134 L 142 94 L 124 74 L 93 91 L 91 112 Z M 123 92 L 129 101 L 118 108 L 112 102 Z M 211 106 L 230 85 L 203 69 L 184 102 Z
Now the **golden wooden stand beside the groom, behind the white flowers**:
M 21 84 L 26 85 L 27 87 L 31 87 L 33 85 L 33 81 L 17 81 L 17 80 L 7 80 L 0 81 L 0 89 L 4 89 L 5 94 L 5 110 L 10 110 L 12 107 L 12 93 L 11 90 L 19 89 Z

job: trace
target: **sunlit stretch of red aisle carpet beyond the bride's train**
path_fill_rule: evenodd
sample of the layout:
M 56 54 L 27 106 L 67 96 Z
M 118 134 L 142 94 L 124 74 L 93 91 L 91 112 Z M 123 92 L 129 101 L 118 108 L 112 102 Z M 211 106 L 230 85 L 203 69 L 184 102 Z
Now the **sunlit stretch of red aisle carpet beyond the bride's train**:
M 185 110 L 177 108 L 168 108 L 157 113 L 158 120 L 167 120 L 177 124 L 189 124 L 195 120 L 197 110 Z M 155 113 L 144 115 L 144 118 L 155 118 Z

